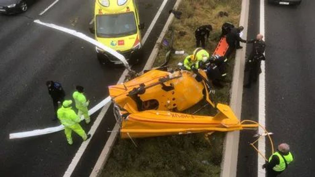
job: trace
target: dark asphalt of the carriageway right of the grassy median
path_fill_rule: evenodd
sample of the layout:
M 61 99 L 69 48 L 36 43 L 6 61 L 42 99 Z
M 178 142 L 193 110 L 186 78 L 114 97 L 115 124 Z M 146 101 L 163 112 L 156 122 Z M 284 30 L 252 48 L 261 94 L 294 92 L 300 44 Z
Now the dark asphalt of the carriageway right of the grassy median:
M 250 8 L 259 9 L 259 3 L 253 5 L 252 2 Z M 295 157 L 279 177 L 312 177 L 315 174 L 312 131 L 315 125 L 314 7 L 315 1 L 307 0 L 299 6 L 265 6 L 266 127 L 274 133 L 275 148 L 286 142 Z M 242 119 L 257 119 L 257 104 L 258 87 L 254 85 L 244 90 Z M 238 176 L 255 177 L 257 154 L 246 148 L 249 146 L 246 140 L 240 142 Z M 270 151 L 267 143 L 266 157 L 270 156 Z

